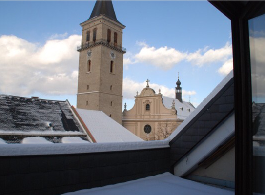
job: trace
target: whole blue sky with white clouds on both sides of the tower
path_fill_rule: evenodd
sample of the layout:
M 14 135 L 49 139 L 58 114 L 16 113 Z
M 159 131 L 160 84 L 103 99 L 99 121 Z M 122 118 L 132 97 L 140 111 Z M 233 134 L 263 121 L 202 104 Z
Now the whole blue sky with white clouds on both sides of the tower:
M 0 1 L 0 93 L 76 105 L 80 23 L 95 1 Z M 198 106 L 232 68 L 230 20 L 207 1 L 113 1 L 123 30 L 123 104 L 146 86 Z

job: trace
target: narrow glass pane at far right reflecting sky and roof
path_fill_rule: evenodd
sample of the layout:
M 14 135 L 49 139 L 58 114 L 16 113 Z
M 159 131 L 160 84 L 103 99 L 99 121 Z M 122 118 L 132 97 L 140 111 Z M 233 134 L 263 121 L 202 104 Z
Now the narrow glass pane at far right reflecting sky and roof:
M 253 122 L 253 194 L 265 195 L 265 15 L 249 20 Z

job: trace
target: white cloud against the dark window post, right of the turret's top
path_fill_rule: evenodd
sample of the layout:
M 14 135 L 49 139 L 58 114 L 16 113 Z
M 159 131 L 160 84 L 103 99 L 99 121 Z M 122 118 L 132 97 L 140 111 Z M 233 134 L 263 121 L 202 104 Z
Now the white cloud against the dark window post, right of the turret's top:
M 205 64 L 216 63 L 220 61 L 226 61 L 232 56 L 232 45 L 226 43 L 226 45 L 220 49 L 199 49 L 194 53 L 189 53 L 187 61 L 194 65 L 202 67 Z

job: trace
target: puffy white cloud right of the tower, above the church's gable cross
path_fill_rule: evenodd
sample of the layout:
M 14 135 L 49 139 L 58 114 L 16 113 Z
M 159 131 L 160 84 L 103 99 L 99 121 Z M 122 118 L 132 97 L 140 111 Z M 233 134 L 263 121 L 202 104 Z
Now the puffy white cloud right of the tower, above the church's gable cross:
M 149 47 L 146 43 L 140 42 L 138 45 L 142 46 L 140 52 L 135 55 L 135 59 L 139 62 L 154 65 L 164 70 L 171 69 L 186 57 L 186 53 L 180 52 L 174 48 Z

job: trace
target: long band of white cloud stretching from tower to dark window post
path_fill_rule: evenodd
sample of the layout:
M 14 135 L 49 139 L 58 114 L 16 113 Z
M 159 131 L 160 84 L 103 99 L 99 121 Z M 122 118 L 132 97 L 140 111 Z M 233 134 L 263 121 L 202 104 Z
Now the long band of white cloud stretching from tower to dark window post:
M 232 45 L 228 42 L 219 49 L 205 47 L 193 53 L 181 52 L 167 46 L 150 47 L 145 42 L 137 42 L 137 45 L 141 46 L 139 53 L 134 56 L 131 54 L 128 58 L 125 58 L 125 65 L 142 62 L 163 70 L 169 70 L 181 61 L 187 61 L 202 67 L 206 64 L 225 62 L 232 56 Z

